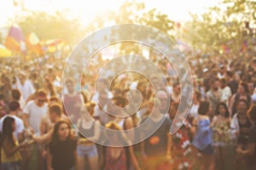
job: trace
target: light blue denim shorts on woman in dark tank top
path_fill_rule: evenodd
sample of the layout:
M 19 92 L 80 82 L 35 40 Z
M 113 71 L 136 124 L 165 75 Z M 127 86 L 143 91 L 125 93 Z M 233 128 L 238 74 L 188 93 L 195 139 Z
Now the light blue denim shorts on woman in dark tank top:
M 84 156 L 96 157 L 96 156 L 98 156 L 98 152 L 97 152 L 95 144 L 91 144 L 91 145 L 79 144 L 77 147 L 77 151 L 78 151 L 78 156 L 81 156 L 81 157 L 84 157 Z

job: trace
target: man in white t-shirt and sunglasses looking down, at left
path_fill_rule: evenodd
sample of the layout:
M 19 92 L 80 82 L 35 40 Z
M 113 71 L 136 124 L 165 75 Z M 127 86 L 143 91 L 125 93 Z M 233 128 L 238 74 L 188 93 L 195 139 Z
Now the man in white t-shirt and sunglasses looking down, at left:
M 43 116 L 47 114 L 48 105 L 46 103 L 47 94 L 43 89 L 38 90 L 35 100 L 29 101 L 23 114 L 23 121 L 26 127 L 32 129 L 36 134 L 40 134 L 40 122 Z

